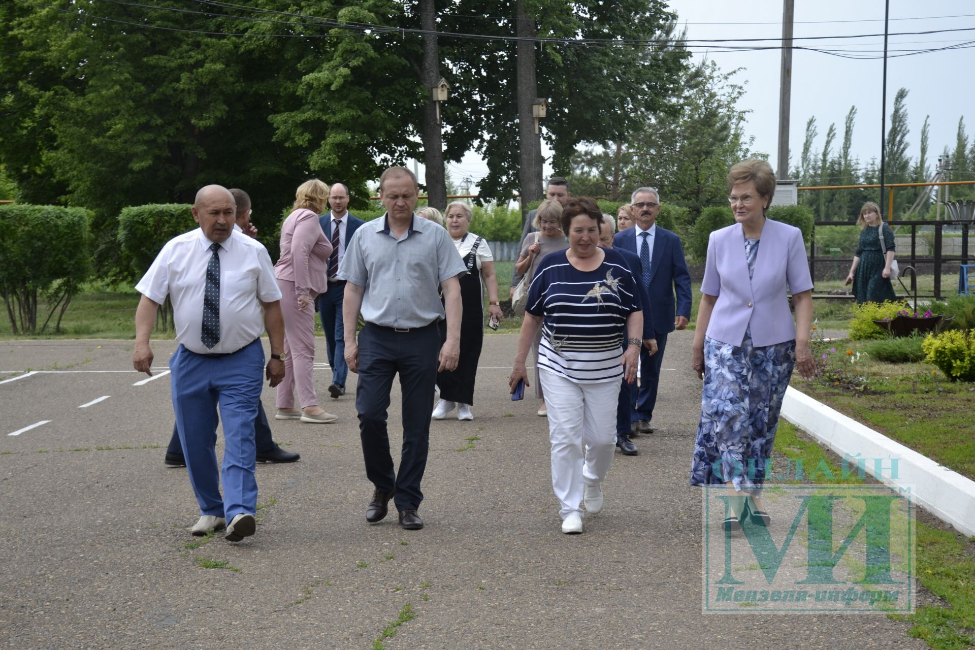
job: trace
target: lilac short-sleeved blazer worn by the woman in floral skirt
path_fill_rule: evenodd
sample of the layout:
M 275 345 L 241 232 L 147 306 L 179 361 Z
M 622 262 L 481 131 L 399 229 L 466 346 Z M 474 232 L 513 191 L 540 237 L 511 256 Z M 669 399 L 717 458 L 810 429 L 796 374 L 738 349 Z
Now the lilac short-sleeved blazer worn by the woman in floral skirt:
M 757 347 L 796 338 L 796 322 L 789 309 L 789 292 L 812 288 L 802 233 L 785 223 L 765 222 L 752 280 L 748 278 L 741 225 L 711 234 L 701 292 L 717 295 L 708 323 L 708 336 L 740 346 L 751 325 Z

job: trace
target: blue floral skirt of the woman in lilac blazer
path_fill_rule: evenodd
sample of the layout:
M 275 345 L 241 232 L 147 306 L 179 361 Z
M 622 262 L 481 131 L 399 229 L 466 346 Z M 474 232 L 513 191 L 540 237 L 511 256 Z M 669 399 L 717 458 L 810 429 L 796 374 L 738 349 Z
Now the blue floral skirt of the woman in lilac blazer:
M 691 485 L 761 488 L 782 398 L 796 365 L 796 341 L 754 347 L 704 339 L 704 391 Z

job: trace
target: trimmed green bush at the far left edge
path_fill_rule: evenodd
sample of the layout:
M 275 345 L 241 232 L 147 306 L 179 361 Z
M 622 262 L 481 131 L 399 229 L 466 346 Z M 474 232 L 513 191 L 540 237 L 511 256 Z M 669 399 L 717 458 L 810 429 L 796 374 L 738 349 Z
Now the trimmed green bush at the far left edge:
M 39 331 L 56 311 L 60 331 L 71 298 L 91 273 L 91 218 L 82 208 L 0 206 L 0 291 L 15 334 L 38 331 L 39 296 L 51 307 Z

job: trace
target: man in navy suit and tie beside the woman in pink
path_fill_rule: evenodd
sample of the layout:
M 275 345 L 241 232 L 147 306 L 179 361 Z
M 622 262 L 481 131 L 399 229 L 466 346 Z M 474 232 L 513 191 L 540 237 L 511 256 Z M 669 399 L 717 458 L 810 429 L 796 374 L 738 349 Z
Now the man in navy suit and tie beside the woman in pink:
M 331 239 L 329 288 L 325 293 L 319 294 L 317 306 L 318 314 L 322 319 L 322 329 L 325 330 L 325 340 L 329 344 L 329 366 L 331 367 L 329 395 L 337 400 L 345 395 L 345 378 L 349 374 L 349 366 L 345 363 L 345 339 L 343 338 L 345 327 L 342 323 L 345 280 L 338 273 L 338 264 L 345 255 L 345 248 L 352 241 L 352 236 L 365 222 L 349 212 L 349 188 L 342 183 L 332 184 L 329 191 L 329 206 L 331 210 L 318 217 L 322 230 Z

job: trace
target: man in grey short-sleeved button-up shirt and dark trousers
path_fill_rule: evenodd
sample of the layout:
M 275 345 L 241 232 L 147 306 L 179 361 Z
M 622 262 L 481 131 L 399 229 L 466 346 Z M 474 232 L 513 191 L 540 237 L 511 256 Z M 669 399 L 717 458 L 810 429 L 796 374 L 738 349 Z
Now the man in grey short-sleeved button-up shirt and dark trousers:
M 379 177 L 379 198 L 386 213 L 363 224 L 345 249 L 339 273 L 347 281 L 342 320 L 366 321 L 356 341 L 345 328 L 345 361 L 359 374 L 356 410 L 366 460 L 366 476 L 375 493 L 366 519 L 386 516 L 395 496 L 400 525 L 423 527 L 416 514 L 423 493 L 430 443 L 430 411 L 439 370 L 453 370 L 460 356 L 460 284 L 467 272 L 443 226 L 413 214 L 418 198 L 416 176 L 402 167 Z M 440 301 L 438 288 L 444 291 Z M 447 311 L 447 342 L 440 344 L 438 324 Z M 438 361 L 439 350 L 439 361 Z M 403 391 L 403 451 L 393 473 L 386 428 L 386 408 L 396 373 Z

